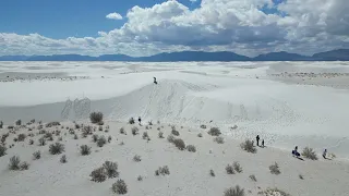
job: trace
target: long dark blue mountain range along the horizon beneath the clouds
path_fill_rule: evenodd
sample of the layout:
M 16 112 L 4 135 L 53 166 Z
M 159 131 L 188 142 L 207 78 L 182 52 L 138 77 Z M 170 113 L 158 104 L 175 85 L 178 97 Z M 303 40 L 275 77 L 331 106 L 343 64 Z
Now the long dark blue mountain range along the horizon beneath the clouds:
M 124 54 L 105 54 L 99 57 L 80 54 L 53 56 L 3 56 L 0 61 L 143 61 L 143 62 L 172 62 L 172 61 L 349 61 L 349 49 L 332 50 L 315 53 L 311 57 L 298 53 L 270 52 L 249 58 L 233 52 L 204 52 L 181 51 L 158 53 L 151 57 L 130 57 Z

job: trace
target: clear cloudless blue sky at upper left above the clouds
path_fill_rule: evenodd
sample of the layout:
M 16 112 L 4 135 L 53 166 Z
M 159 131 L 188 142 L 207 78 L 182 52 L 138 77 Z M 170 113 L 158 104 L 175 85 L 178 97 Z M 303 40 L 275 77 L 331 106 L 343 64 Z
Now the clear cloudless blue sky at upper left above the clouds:
M 38 33 L 50 38 L 96 37 L 122 26 L 125 19 L 107 20 L 112 12 L 124 16 L 134 5 L 151 8 L 161 0 L 1 0 L 0 33 Z M 200 1 L 179 1 L 190 9 Z

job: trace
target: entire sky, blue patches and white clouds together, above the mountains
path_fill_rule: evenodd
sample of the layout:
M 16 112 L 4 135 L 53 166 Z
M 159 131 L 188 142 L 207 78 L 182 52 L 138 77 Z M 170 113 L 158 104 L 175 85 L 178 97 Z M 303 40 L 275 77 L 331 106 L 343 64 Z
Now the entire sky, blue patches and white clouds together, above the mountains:
M 348 0 L 1 0 L 0 56 L 312 54 L 349 48 L 348 10 Z

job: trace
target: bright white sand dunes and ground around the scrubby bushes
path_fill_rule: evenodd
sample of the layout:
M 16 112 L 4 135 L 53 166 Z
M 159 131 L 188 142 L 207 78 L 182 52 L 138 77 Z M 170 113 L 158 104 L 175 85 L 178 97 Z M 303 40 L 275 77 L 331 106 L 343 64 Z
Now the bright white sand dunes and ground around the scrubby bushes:
M 165 183 L 164 181 L 149 180 L 151 182 L 147 183 L 153 184 L 141 185 L 143 192 L 137 189 L 134 195 L 219 195 L 224 187 L 231 185 L 228 183 L 229 177 L 225 179 L 227 177 L 225 176 L 216 181 L 214 185 L 209 185 L 213 182 L 204 172 L 206 170 L 208 172 L 209 166 L 215 166 L 220 169 L 219 175 L 224 175 L 224 164 L 234 158 L 241 160 L 246 166 L 246 170 L 251 170 L 250 172 L 262 175 L 257 185 L 248 182 L 248 175 L 238 177 L 237 184 L 252 191 L 251 195 L 256 195 L 258 191 L 256 186 L 262 188 L 277 186 L 292 195 L 348 195 L 349 192 L 345 185 L 348 184 L 346 179 L 348 179 L 349 166 L 347 162 L 349 159 L 349 121 L 347 120 L 349 117 L 349 66 L 347 64 L 347 62 L 1 62 L 0 120 L 7 125 L 13 124 L 17 119 L 22 119 L 23 122 L 36 119 L 44 122 L 69 123 L 74 120 L 85 121 L 91 111 L 101 111 L 106 122 L 109 122 L 112 127 L 110 134 L 116 138 L 123 137 L 118 135 L 118 130 L 120 126 L 127 126 L 123 122 L 131 117 L 142 117 L 143 121 L 160 120 L 164 123 L 190 128 L 192 135 L 185 134 L 182 138 L 185 140 L 188 137 L 190 143 L 197 145 L 197 148 L 201 149 L 196 152 L 197 155 L 195 154 L 195 158 L 191 154 L 183 155 L 176 151 L 177 149 L 166 146 L 166 142 L 154 142 L 154 144 L 143 144 L 143 146 L 134 144 L 134 146 L 135 142 L 132 137 L 124 138 L 130 146 L 117 152 L 117 157 L 121 156 L 122 159 L 127 159 L 120 160 L 123 170 L 127 170 L 131 154 L 139 151 L 137 154 L 142 152 L 145 157 L 149 156 L 145 164 L 149 166 L 154 162 L 161 162 L 158 160 L 161 156 L 157 154 L 165 154 L 163 150 L 169 150 L 167 155 L 169 157 L 165 158 L 165 162 L 169 166 L 180 168 L 182 161 L 183 164 L 193 164 L 200 160 L 197 163 L 205 167 L 205 169 L 197 170 L 190 168 L 194 173 L 183 170 L 176 175 L 179 179 L 190 176 L 191 180 L 188 181 L 179 181 L 179 179 L 177 181 L 176 177 L 167 179 L 165 182 L 170 187 L 168 192 L 164 189 L 166 184 L 156 187 L 156 184 Z M 157 77 L 158 85 L 153 84 L 153 76 Z M 120 123 L 115 123 L 115 121 Z M 201 132 L 198 127 L 202 124 L 218 126 L 227 139 L 234 140 L 227 144 L 225 148 L 217 149 L 215 147 L 217 144 L 210 144 L 212 138 L 208 139 L 208 136 L 203 139 L 204 142 L 197 142 L 196 134 Z M 234 125 L 237 128 L 231 128 Z M 5 128 L 0 131 L 5 132 Z M 153 134 L 155 135 L 152 137 L 156 137 L 156 133 Z M 241 152 L 238 140 L 253 139 L 257 134 L 265 139 L 269 148 L 261 150 L 263 152 L 256 156 Z M 193 136 L 195 139 L 190 138 Z M 75 140 L 67 138 L 65 143 L 70 149 L 76 149 Z M 290 157 L 291 149 L 297 145 L 300 148 L 310 146 L 318 155 L 324 148 L 327 148 L 329 152 L 336 154 L 337 158 L 332 161 L 300 162 Z M 24 150 L 27 146 L 23 145 L 21 148 L 20 146 L 16 145 L 15 148 L 9 149 L 11 155 L 19 152 L 21 157 L 28 160 L 34 149 L 31 147 L 31 150 Z M 119 148 L 117 143 L 106 147 L 108 152 L 96 154 L 98 158 L 88 157 L 85 160 L 89 162 L 88 166 L 86 164 L 87 168 L 75 168 L 80 167 L 82 159 L 77 158 L 75 151 L 68 151 L 69 156 L 75 157 L 73 158 L 74 163 L 70 164 L 77 170 L 76 176 L 70 174 L 61 179 L 49 179 L 48 184 L 58 183 L 53 186 L 53 191 L 49 191 L 48 187 L 40 191 L 34 189 L 33 187 L 38 185 L 38 182 L 33 183 L 25 187 L 29 191 L 27 195 L 43 195 L 45 192 L 50 195 L 76 195 L 82 191 L 81 188 L 85 188 L 85 185 L 89 188 L 92 185 L 86 180 L 88 179 L 86 172 L 91 172 L 92 167 L 97 166 L 91 160 L 96 159 L 100 163 L 104 161 L 101 157 L 116 158 L 112 155 L 115 148 Z M 214 160 L 205 162 L 205 159 L 213 156 L 207 155 L 210 148 L 214 148 L 214 151 L 225 150 L 226 154 L 219 156 L 215 154 L 214 159 L 217 159 L 217 162 Z M 147 150 L 142 151 L 142 149 Z M 155 152 L 157 154 L 154 155 Z M 7 181 L 9 185 L 17 177 L 7 173 L 8 158 L 9 156 L 5 160 L 3 158 L 0 160 L 2 171 L 8 179 L 11 179 Z M 57 160 L 49 155 L 47 155 L 47 161 L 45 167 L 52 168 L 57 164 Z M 251 161 L 260 163 L 255 167 L 255 163 Z M 279 162 L 280 168 L 286 169 L 286 176 L 272 177 L 267 173 L 267 167 L 274 161 Z M 133 172 L 142 172 L 145 166 Z M 34 175 L 36 177 L 43 175 L 36 170 L 38 168 L 33 167 L 31 171 L 36 173 L 26 174 L 28 179 Z M 158 166 L 152 164 L 152 167 L 157 168 Z M 327 172 L 321 173 L 324 169 Z M 145 169 L 143 172 L 153 179 L 153 168 L 151 170 Z M 62 171 L 62 173 L 65 172 Z M 300 181 L 299 172 L 310 175 L 311 182 Z M 189 174 L 184 175 L 185 173 Z M 44 175 L 45 177 L 40 181 L 43 186 L 46 183 L 45 179 L 50 177 L 53 173 Z M 136 173 L 131 175 L 127 174 L 124 177 L 129 177 L 129 182 L 139 183 L 135 182 Z M 196 177 L 201 179 L 203 175 L 206 177 L 204 182 L 195 181 Z M 71 182 L 74 182 L 73 184 L 77 187 L 59 192 L 61 187 L 69 186 L 67 183 L 70 181 L 62 182 L 67 177 L 71 179 Z M 0 177 L 0 181 L 2 184 L 5 179 Z M 220 184 L 221 181 L 225 183 Z M 185 184 L 195 187 L 188 187 Z M 106 195 L 109 192 L 105 186 L 110 185 L 110 183 L 108 185 L 94 184 L 92 187 L 103 191 L 88 191 L 88 194 Z M 11 187 L 15 188 L 15 186 L 20 184 Z M 132 184 L 132 189 L 136 189 L 137 184 Z M 209 186 L 212 188 L 208 189 Z M 17 193 L 24 194 L 24 192 L 22 188 Z M 16 195 L 9 189 L 5 193 Z

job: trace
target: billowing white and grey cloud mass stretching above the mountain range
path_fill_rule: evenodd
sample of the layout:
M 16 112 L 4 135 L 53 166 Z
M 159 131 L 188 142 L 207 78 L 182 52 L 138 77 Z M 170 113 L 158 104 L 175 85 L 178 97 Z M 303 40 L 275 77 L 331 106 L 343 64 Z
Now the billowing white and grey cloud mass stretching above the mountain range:
M 0 54 L 148 56 L 180 50 L 312 54 L 349 47 L 348 10 L 347 0 L 202 0 L 194 10 L 166 1 L 131 8 L 121 27 L 98 32 L 98 37 L 50 39 L 0 33 Z M 118 13 L 108 15 L 122 19 Z

